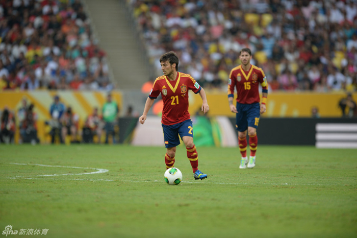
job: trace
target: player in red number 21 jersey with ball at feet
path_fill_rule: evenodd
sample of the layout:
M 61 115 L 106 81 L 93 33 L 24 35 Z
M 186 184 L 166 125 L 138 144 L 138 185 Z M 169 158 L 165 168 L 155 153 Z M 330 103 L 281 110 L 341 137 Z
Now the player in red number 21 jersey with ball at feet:
M 164 75 L 155 80 L 139 122 L 145 123 L 149 109 L 161 93 L 164 102 L 161 123 L 166 147 L 166 168 L 172 168 L 174 165 L 176 146 L 180 145 L 180 135 L 186 146 L 187 157 L 191 162 L 193 177 L 196 180 L 205 179 L 207 174 L 198 170 L 198 154 L 193 143 L 192 121 L 188 112 L 188 90 L 199 93 L 202 98 L 201 110 L 204 113 L 210 110 L 206 92 L 190 75 L 177 71 L 179 58 L 174 52 L 170 51 L 162 55 L 160 64 Z

